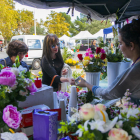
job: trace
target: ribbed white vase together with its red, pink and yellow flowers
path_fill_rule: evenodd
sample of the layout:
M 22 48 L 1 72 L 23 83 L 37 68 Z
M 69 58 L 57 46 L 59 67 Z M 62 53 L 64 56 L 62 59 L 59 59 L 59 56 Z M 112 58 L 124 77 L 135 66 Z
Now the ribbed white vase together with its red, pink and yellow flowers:
M 104 49 L 97 47 L 96 53 L 93 54 L 91 48 L 86 50 L 85 57 L 78 54 L 80 62 L 83 64 L 83 69 L 86 72 L 86 81 L 90 84 L 99 86 L 100 73 L 104 71 L 106 54 Z

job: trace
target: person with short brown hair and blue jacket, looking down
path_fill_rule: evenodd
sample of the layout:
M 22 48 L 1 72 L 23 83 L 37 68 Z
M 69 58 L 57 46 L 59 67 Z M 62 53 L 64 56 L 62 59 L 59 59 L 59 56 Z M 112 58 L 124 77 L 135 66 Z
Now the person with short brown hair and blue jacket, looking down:
M 19 56 L 20 65 L 29 71 L 28 65 L 22 61 L 25 54 L 28 52 L 27 45 L 19 40 L 14 40 L 8 44 L 8 48 L 6 53 L 8 54 L 7 58 L 0 59 L 0 64 L 4 65 L 5 67 L 12 67 L 15 63 L 17 55 Z

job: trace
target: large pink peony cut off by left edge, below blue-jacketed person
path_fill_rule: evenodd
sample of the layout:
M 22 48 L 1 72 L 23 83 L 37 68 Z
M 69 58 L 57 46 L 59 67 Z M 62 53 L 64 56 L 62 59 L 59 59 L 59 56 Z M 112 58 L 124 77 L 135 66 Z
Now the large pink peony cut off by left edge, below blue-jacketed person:
M 15 85 L 16 76 L 10 70 L 11 70 L 11 68 L 5 68 L 5 69 L 1 70 L 1 73 L 0 73 L 0 84 L 1 85 L 7 85 L 10 87 L 13 87 Z

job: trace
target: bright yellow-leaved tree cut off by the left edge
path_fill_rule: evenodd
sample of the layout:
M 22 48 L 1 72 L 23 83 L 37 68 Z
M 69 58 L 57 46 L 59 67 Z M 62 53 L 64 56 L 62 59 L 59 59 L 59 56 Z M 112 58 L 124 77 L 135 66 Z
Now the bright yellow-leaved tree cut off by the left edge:
M 5 40 L 10 40 L 17 28 L 18 13 L 13 0 L 0 1 L 0 31 Z

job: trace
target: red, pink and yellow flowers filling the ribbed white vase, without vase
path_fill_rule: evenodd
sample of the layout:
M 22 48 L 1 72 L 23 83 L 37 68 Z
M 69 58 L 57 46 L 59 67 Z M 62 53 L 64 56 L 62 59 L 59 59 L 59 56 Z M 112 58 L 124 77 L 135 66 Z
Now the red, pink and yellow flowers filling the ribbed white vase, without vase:
M 91 48 L 86 50 L 83 58 L 82 54 L 78 54 L 79 61 L 83 64 L 85 72 L 102 72 L 105 64 L 106 54 L 104 49 L 97 47 L 96 53 L 93 54 Z

